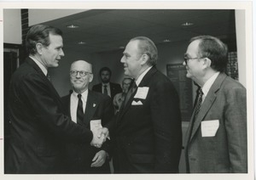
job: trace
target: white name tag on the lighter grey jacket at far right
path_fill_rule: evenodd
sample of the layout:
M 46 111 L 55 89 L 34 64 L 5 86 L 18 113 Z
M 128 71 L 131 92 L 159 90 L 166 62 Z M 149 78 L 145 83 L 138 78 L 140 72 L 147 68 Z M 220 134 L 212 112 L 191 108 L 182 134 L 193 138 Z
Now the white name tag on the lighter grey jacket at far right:
M 218 120 L 201 121 L 201 136 L 214 137 L 219 127 Z

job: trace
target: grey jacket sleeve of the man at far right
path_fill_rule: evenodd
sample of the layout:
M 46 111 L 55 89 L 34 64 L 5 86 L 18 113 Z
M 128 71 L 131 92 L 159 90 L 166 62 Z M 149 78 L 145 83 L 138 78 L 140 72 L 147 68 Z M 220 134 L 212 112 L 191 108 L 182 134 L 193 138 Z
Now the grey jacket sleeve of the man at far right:
M 229 89 L 225 105 L 231 172 L 247 172 L 247 97 L 246 89 Z

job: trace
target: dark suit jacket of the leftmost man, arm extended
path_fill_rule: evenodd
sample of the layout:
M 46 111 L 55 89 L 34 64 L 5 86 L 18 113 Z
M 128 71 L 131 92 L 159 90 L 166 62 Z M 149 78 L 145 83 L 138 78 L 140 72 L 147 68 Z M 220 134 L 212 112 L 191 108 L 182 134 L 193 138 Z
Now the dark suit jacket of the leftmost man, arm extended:
M 9 117 L 6 173 L 58 173 L 61 141 L 90 144 L 92 139 L 90 130 L 63 115 L 55 87 L 30 58 L 12 76 Z

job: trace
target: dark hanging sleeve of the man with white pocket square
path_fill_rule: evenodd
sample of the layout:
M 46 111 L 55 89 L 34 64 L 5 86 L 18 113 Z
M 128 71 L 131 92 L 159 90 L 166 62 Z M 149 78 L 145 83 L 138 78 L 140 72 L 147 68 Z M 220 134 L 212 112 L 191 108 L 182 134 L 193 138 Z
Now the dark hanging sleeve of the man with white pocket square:
M 172 82 L 156 82 L 150 99 L 155 138 L 155 172 L 178 172 L 182 149 L 179 100 Z

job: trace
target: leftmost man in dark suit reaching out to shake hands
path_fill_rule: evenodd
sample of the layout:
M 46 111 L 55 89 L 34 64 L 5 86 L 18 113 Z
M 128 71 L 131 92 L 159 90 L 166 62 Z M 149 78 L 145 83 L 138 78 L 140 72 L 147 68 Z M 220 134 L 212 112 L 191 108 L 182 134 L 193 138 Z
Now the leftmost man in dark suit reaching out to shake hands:
M 64 56 L 61 35 L 48 25 L 34 25 L 27 33 L 29 58 L 15 71 L 9 87 L 5 173 L 59 173 L 61 140 L 95 145 L 103 141 L 63 114 L 61 98 L 46 77 L 48 68 L 57 67 Z

